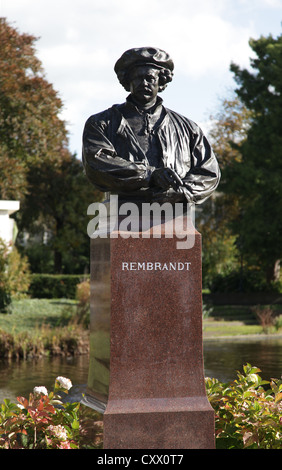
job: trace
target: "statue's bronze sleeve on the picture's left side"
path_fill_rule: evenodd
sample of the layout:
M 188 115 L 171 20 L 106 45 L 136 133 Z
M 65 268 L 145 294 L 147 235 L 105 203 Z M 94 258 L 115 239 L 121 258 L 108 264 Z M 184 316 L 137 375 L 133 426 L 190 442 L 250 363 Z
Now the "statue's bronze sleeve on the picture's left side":
M 107 138 L 107 122 L 93 116 L 84 127 L 82 161 L 86 176 L 100 191 L 130 192 L 149 186 L 152 170 L 117 155 Z

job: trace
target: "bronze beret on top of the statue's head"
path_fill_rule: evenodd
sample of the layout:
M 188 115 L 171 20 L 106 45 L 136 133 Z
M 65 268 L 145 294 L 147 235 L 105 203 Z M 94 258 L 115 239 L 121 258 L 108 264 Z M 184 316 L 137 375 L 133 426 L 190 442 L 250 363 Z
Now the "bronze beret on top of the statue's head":
M 122 77 L 135 65 L 151 64 L 158 68 L 171 71 L 174 64 L 169 54 L 155 47 L 135 47 L 125 51 L 115 64 L 114 70 L 118 78 Z

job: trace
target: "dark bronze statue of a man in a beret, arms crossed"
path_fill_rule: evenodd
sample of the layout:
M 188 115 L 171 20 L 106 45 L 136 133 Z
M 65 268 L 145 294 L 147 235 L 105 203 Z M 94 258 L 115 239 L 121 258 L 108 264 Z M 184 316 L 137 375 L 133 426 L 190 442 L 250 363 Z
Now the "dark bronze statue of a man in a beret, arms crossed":
M 116 62 L 130 94 L 91 116 L 83 133 L 86 175 L 99 190 L 126 200 L 197 204 L 216 189 L 220 171 L 203 132 L 158 96 L 173 69 L 170 56 L 153 47 L 130 49 Z

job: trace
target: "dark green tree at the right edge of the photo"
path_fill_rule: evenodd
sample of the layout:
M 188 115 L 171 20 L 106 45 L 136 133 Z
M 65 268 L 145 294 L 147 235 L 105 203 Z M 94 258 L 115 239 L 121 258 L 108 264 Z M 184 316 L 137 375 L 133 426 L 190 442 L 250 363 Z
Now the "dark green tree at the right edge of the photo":
M 282 255 L 282 36 L 251 39 L 250 46 L 256 54 L 252 70 L 231 64 L 250 126 L 241 157 L 223 169 L 220 189 L 237 201 L 231 228 L 241 255 L 270 283 L 278 278 Z

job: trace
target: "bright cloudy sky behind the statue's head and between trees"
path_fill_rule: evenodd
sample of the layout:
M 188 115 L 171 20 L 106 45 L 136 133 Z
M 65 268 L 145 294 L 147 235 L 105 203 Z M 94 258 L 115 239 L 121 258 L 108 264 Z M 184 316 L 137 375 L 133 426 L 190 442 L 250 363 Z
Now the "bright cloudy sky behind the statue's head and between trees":
M 164 104 L 207 131 L 235 88 L 231 61 L 248 67 L 249 38 L 281 34 L 282 0 L 0 0 L 0 16 L 40 38 L 37 55 L 64 102 L 70 150 L 80 156 L 86 119 L 127 96 L 113 67 L 131 47 L 171 54 Z

